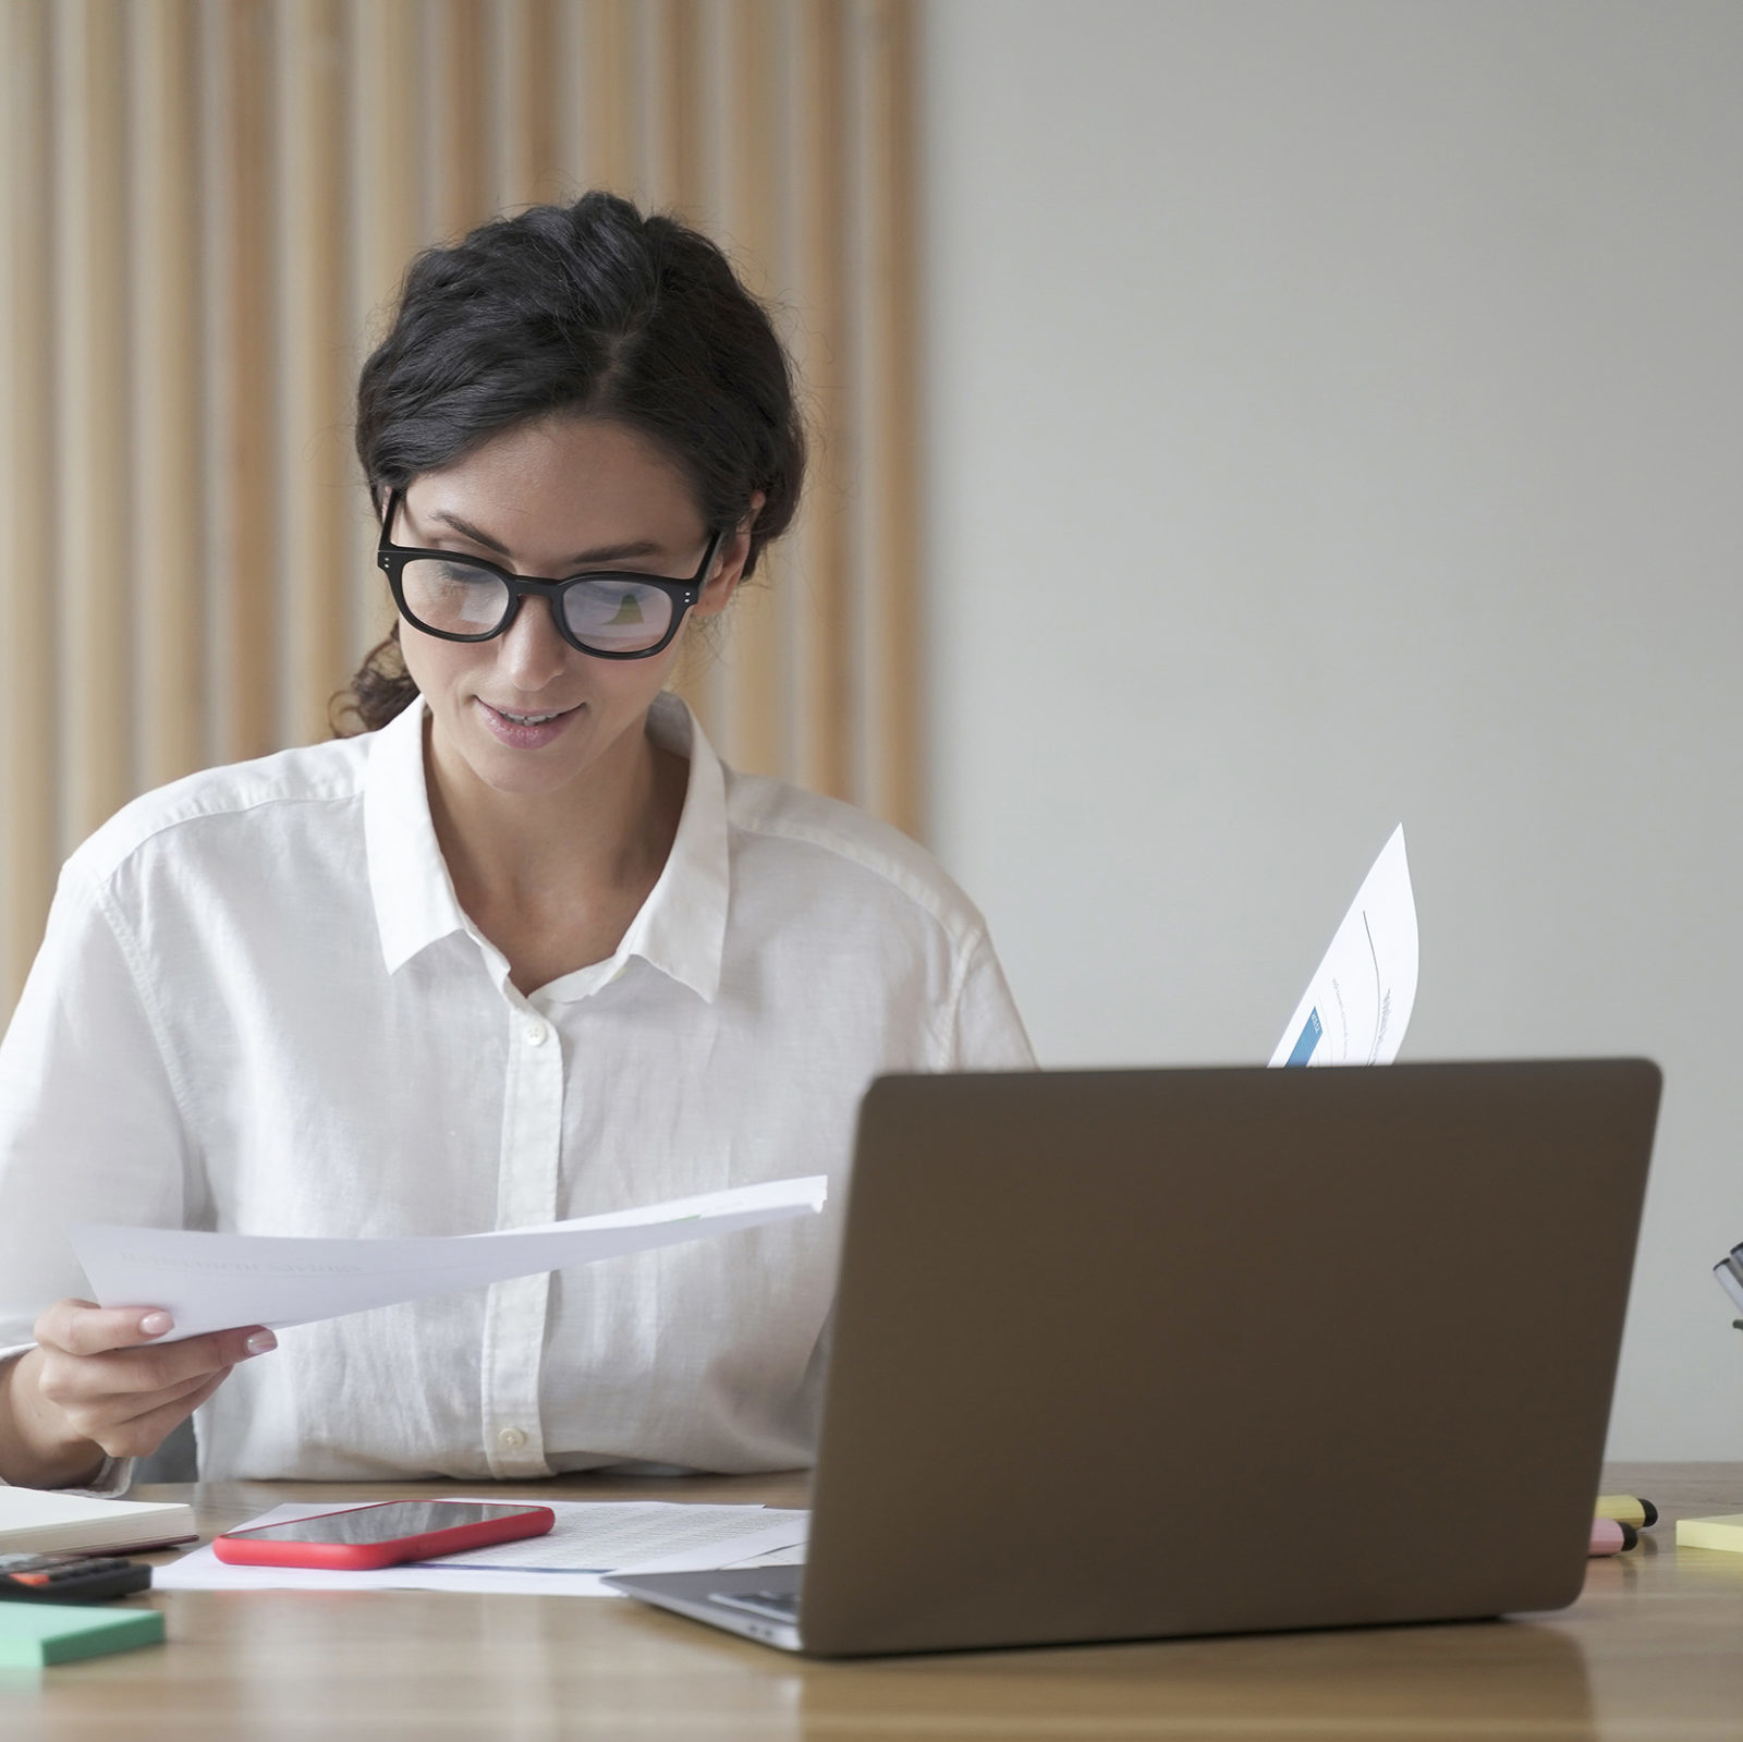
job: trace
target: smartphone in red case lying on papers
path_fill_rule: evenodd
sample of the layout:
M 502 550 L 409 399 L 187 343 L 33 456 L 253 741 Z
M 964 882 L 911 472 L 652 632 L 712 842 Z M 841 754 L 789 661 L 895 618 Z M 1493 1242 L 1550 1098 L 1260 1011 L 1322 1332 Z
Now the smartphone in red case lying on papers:
M 213 1552 L 230 1566 L 319 1566 L 368 1573 L 401 1561 L 483 1548 L 516 1536 L 544 1536 L 556 1524 L 549 1507 L 486 1507 L 471 1500 L 380 1500 L 345 1512 L 321 1512 L 289 1524 L 225 1531 Z

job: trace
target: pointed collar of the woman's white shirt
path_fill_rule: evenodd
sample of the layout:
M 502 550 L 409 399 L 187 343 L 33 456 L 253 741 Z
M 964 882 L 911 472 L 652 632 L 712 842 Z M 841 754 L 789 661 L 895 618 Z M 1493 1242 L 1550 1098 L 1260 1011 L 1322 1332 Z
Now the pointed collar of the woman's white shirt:
M 420 696 L 370 745 L 364 774 L 364 844 L 382 961 L 397 973 L 418 950 L 455 931 L 471 933 L 431 821 L 424 774 L 425 703 Z M 584 996 L 615 978 L 631 956 L 713 1003 L 727 942 L 730 891 L 727 779 L 713 745 L 678 696 L 648 710 L 648 736 L 690 766 L 678 834 L 666 867 L 629 922 L 610 964 L 553 980 L 553 999 Z M 607 966 L 610 971 L 601 973 Z

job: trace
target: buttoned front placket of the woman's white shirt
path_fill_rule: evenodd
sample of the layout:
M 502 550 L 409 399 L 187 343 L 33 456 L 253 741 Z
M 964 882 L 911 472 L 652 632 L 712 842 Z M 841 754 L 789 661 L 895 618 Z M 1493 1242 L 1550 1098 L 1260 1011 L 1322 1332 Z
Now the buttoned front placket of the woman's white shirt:
M 509 994 L 497 1228 L 556 1221 L 563 1144 L 563 1043 L 532 1004 Z M 485 1301 L 483 1435 L 493 1477 L 549 1475 L 539 1419 L 551 1278 L 492 1283 Z

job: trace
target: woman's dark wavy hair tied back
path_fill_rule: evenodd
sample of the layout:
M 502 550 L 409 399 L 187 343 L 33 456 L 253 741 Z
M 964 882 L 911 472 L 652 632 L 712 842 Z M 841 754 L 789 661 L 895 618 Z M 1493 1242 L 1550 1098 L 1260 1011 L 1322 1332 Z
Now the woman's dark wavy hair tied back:
M 504 429 L 565 412 L 650 438 L 709 532 L 741 525 L 760 490 L 746 575 L 798 507 L 805 434 L 767 312 L 706 235 L 614 194 L 495 218 L 413 260 L 357 380 L 357 459 L 380 509 Z M 413 696 L 394 624 L 335 697 L 335 727 L 373 731 Z

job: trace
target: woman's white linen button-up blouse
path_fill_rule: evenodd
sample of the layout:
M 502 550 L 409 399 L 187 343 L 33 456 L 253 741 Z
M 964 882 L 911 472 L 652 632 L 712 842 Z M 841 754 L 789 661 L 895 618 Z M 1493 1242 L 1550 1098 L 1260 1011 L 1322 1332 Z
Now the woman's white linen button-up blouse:
M 0 1045 L 0 1358 L 85 1292 L 77 1221 L 462 1235 L 828 1174 L 821 1217 L 284 1330 L 197 1416 L 213 1479 L 809 1463 L 861 1092 L 1032 1064 L 981 917 L 662 696 L 671 858 L 610 961 L 521 996 L 424 722 L 195 774 L 68 860 Z

